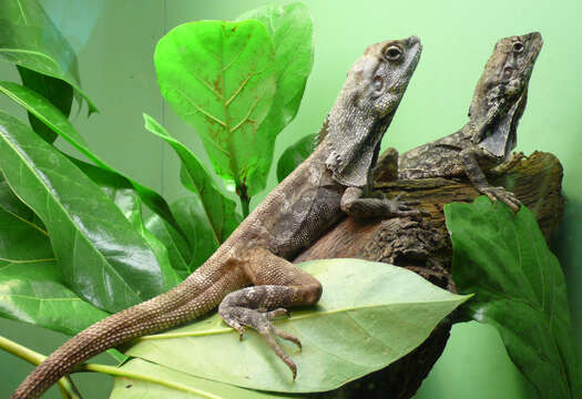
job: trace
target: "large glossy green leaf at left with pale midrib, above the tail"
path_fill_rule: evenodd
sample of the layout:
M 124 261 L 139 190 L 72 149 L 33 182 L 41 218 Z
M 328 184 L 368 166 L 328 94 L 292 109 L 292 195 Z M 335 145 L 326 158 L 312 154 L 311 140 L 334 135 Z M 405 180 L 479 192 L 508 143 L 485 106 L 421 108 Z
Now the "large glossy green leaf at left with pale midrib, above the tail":
M 118 311 L 172 286 L 145 241 L 74 164 L 19 120 L 0 112 L 0 168 L 44 222 L 67 285 Z

